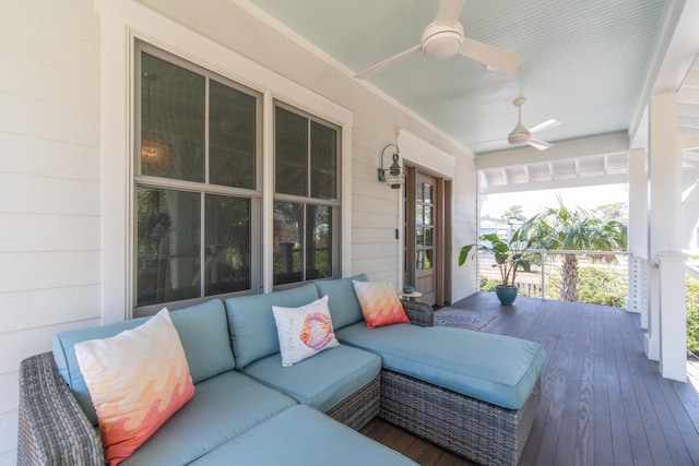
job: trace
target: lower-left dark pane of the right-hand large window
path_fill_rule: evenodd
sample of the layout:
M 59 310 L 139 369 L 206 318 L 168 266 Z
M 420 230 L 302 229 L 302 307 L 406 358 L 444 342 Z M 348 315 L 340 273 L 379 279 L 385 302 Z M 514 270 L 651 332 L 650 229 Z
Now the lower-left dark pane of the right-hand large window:
M 274 203 L 274 285 L 301 282 L 304 204 Z

